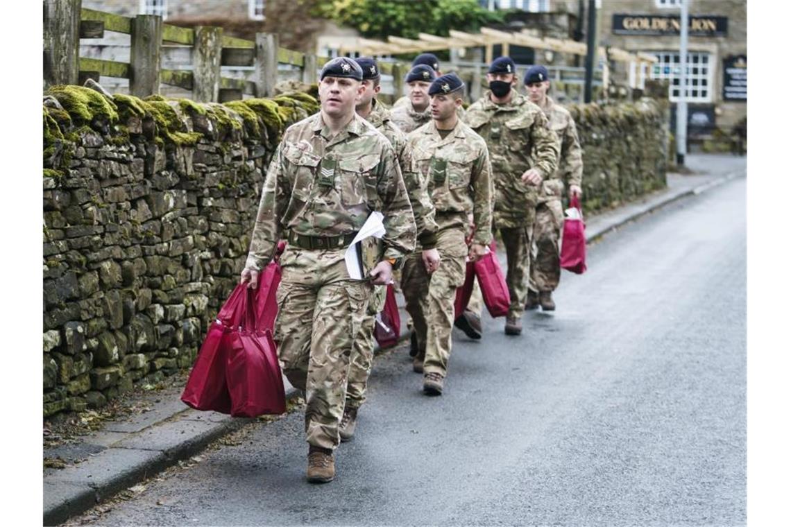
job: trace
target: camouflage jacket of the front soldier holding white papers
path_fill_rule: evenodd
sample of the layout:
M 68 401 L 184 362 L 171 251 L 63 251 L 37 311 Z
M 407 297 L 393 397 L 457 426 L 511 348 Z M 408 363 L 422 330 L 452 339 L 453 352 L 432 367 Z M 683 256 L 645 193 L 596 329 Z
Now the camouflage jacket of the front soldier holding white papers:
M 384 214 L 384 258 L 414 250 L 414 216 L 395 151 L 359 115 L 334 137 L 321 112 L 289 126 L 264 179 L 245 264 L 263 269 L 284 231 L 308 236 L 360 230 Z

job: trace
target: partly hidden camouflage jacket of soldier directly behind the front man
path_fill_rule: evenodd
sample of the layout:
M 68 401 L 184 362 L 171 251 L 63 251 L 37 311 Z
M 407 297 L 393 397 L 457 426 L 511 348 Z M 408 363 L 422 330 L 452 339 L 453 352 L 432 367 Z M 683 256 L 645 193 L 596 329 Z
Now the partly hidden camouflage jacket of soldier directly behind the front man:
M 418 228 L 418 239 L 423 249 L 431 249 L 437 243 L 437 222 L 434 220 L 434 205 L 431 203 L 428 190 L 428 179 L 419 171 L 412 170 L 412 149 L 407 145 L 407 134 L 404 134 L 390 119 L 390 111 L 376 99 L 371 101 L 373 107 L 368 115 L 368 122 L 373 124 L 384 137 L 388 138 L 395 156 L 399 160 L 403 183 L 407 187 L 409 201 L 412 204 L 414 223 Z

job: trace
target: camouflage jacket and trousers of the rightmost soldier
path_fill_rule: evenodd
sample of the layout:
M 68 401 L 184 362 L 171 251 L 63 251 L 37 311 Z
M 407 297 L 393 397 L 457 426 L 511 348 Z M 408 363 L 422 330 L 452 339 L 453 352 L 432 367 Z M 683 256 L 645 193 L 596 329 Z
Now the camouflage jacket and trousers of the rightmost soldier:
M 577 138 L 577 125 L 566 108 L 547 96 L 542 108 L 549 126 L 558 137 L 560 159 L 558 169 L 541 183 L 533 225 L 530 288 L 535 292 L 554 291 L 560 281 L 560 240 L 563 228 L 563 194 L 566 185 L 582 185 L 582 149 Z

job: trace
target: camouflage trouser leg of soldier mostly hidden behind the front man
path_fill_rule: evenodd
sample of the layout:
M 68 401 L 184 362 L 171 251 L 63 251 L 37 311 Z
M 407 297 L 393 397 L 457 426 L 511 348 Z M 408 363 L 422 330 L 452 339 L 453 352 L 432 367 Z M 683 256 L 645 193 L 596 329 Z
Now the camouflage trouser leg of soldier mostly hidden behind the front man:
M 385 292 L 383 285 L 375 286 L 373 299 L 365 310 L 365 316 L 360 322 L 360 331 L 354 338 L 349 359 L 349 380 L 346 383 L 346 406 L 360 408 L 365 402 L 365 391 L 368 378 L 373 367 L 373 330 L 377 323 L 377 314 L 384 309 Z

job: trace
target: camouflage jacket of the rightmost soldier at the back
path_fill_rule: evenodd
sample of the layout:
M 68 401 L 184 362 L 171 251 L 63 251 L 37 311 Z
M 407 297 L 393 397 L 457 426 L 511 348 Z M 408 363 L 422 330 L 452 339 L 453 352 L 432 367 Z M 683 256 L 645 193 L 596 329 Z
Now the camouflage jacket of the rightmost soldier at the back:
M 547 96 L 547 105 L 541 108 L 549 119 L 549 126 L 558 136 L 560 159 L 558 169 L 543 181 L 539 202 L 561 198 L 563 183 L 566 185 L 582 185 L 582 148 L 577 137 L 577 125 L 566 108 L 555 104 Z

